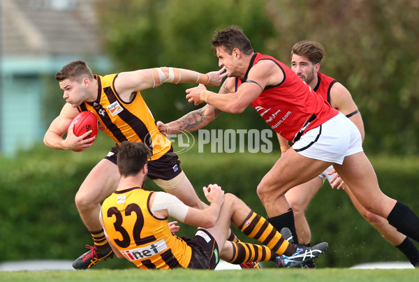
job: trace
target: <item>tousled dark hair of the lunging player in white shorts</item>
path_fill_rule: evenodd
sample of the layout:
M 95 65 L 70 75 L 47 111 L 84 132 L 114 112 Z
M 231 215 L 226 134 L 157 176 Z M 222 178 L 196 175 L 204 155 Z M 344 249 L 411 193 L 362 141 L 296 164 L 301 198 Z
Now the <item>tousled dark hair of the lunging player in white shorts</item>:
M 240 49 L 244 54 L 251 54 L 253 47 L 249 38 L 244 35 L 242 29 L 237 26 L 230 26 L 223 30 L 215 31 L 215 36 L 212 38 L 212 52 L 216 53 L 216 47 L 222 46 L 228 54 L 233 52 L 234 48 Z

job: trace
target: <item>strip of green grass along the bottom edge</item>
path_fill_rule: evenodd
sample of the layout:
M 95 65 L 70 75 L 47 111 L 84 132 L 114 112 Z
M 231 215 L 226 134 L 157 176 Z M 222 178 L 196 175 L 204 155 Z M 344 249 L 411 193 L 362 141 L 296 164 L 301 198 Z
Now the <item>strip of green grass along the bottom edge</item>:
M 175 269 L 170 271 L 138 269 L 87 271 L 0 272 L 0 281 L 147 281 L 147 282 L 272 282 L 272 281 L 325 281 L 325 282 L 414 282 L 419 281 L 418 269 L 253 269 L 205 271 Z

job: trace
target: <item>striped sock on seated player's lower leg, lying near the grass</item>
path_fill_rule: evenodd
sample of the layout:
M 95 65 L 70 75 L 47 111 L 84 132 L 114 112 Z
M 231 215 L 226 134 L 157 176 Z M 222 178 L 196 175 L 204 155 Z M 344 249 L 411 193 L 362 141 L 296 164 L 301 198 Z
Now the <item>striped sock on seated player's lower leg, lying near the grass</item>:
M 278 256 L 267 246 L 244 242 L 230 243 L 233 244 L 233 258 L 228 262 L 233 265 L 240 265 L 243 262 L 266 262 Z

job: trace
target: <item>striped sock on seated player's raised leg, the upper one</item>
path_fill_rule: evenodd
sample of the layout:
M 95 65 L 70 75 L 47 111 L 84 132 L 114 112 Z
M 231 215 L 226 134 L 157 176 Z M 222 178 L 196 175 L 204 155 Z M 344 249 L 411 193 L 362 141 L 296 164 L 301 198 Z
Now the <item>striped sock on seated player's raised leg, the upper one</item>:
M 247 237 L 258 240 L 278 255 L 292 255 L 295 251 L 293 244 L 289 244 L 265 218 L 253 211 L 239 228 Z

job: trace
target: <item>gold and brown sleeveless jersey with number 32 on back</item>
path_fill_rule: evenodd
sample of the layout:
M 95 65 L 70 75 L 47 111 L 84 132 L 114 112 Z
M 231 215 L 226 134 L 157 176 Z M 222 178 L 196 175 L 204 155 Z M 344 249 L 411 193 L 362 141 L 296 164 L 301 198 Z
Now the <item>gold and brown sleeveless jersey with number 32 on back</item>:
M 103 201 L 106 234 L 124 257 L 140 269 L 188 267 L 192 249 L 172 235 L 168 218 L 155 218 L 148 207 L 152 191 L 140 187 L 115 191 Z

